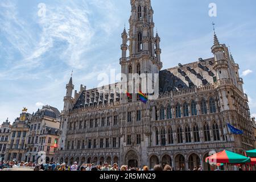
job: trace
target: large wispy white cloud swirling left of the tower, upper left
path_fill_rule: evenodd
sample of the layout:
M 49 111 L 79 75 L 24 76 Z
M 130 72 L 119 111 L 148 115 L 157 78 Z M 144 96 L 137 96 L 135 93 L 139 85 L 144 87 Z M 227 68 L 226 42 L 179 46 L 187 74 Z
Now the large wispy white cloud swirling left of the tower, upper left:
M 68 67 L 82 69 L 88 66 L 90 56 L 86 55 L 97 45 L 108 40 L 111 32 L 119 24 L 114 16 L 114 1 L 102 0 L 68 1 L 47 4 L 46 17 L 39 17 L 37 9 L 32 13 L 32 22 L 19 16 L 18 6 L 13 2 L 0 2 L 0 31 L 20 59 L 10 55 L 11 67 L 0 73 L 0 79 L 19 80 L 26 77 L 22 72 L 40 68 L 48 64 L 46 56 L 55 56 Z M 97 20 L 94 18 L 98 14 Z M 108 12 L 105 14 L 104 12 Z M 34 29 L 39 26 L 39 30 Z M 98 32 L 102 32 L 98 36 Z M 96 35 L 97 34 L 97 35 Z M 4 46 L 3 49 L 7 49 Z M 7 51 L 10 52 L 10 51 Z M 47 55 L 47 53 L 50 53 Z M 72 69 L 71 68 L 71 69 Z M 37 77 L 33 73 L 30 77 Z

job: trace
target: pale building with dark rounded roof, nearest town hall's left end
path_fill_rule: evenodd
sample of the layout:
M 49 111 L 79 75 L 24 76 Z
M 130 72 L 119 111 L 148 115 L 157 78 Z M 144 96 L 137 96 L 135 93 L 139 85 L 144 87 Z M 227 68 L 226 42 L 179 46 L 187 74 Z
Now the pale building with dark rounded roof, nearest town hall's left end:
M 53 144 L 59 141 L 60 112 L 55 107 L 43 106 L 38 109 L 29 122 L 30 130 L 26 141 L 26 162 L 38 162 L 45 154 L 45 162 L 53 162 L 56 148 Z

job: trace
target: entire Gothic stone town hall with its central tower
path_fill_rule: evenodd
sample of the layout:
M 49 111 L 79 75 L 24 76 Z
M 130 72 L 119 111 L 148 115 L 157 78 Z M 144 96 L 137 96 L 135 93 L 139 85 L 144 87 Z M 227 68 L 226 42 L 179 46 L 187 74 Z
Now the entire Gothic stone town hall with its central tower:
M 115 92 L 119 89 L 115 83 L 104 86 L 104 92 L 81 85 L 72 97 L 71 78 L 61 111 L 56 161 L 150 168 L 159 163 L 176 169 L 201 165 L 207 170 L 204 159 L 210 151 L 242 154 L 255 147 L 239 65 L 225 44 L 214 32 L 214 57 L 161 71 L 153 14 L 150 0 L 131 0 L 130 30 L 122 32 L 120 64 L 129 79 L 130 73 L 159 73 L 160 94 L 144 104 L 138 100 L 138 90 L 129 99 Z M 231 134 L 227 123 L 244 134 Z

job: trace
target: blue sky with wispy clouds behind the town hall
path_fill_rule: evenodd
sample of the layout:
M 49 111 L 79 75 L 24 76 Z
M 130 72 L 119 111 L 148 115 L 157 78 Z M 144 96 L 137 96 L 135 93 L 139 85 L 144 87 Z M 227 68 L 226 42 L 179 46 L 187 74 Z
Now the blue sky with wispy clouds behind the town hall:
M 251 114 L 256 115 L 256 1 L 151 0 L 162 42 L 164 68 L 212 57 L 212 22 L 221 43 L 240 64 Z M 217 16 L 208 15 L 216 3 Z M 38 5 L 46 5 L 46 16 Z M 73 69 L 75 89 L 97 86 L 97 75 L 120 71 L 123 25 L 129 0 L 0 2 L 0 123 L 13 122 L 23 106 L 63 109 L 65 84 Z

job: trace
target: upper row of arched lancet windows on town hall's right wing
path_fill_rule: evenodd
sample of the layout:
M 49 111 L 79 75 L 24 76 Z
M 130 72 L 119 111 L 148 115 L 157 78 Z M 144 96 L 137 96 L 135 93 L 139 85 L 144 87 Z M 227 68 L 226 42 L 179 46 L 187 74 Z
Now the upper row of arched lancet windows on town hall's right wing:
M 188 117 L 189 116 L 189 107 L 190 107 L 191 115 L 192 116 L 197 115 L 198 111 L 197 111 L 196 105 L 197 104 L 195 101 L 191 101 L 190 104 L 185 102 L 182 105 L 182 107 L 179 103 L 177 103 L 175 105 L 175 117 L 181 118 L 181 110 L 183 111 L 182 112 L 183 117 Z M 201 100 L 200 105 L 201 105 L 201 114 L 208 114 L 207 102 L 205 100 Z M 211 114 L 216 113 L 216 103 L 212 97 L 209 99 L 209 111 Z M 159 117 L 160 120 L 171 119 L 173 117 L 171 105 L 167 105 L 167 108 L 165 108 L 164 106 L 160 106 L 159 116 L 160 116 Z M 156 119 L 158 119 L 157 112 L 156 112 Z

